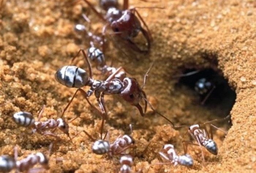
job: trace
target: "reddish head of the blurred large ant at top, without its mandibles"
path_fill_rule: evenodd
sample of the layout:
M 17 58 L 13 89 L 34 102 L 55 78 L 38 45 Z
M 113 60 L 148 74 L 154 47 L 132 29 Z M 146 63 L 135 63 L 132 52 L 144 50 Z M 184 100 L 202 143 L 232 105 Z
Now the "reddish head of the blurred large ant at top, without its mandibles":
M 114 20 L 110 27 L 114 32 L 120 32 L 124 39 L 135 37 L 141 30 L 139 19 L 129 10 L 123 11 L 118 20 Z

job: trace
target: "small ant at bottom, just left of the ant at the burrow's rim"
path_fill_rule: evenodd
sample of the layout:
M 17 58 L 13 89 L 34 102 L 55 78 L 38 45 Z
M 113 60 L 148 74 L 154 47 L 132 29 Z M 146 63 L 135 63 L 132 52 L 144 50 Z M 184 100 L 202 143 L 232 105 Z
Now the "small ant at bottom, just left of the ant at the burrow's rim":
M 193 159 L 189 154 L 184 154 L 182 156 L 178 156 L 176 151 L 174 150 L 174 146 L 171 144 L 166 144 L 163 146 L 163 152 L 159 152 L 160 156 L 162 156 L 165 160 L 170 161 L 174 166 L 178 164 L 184 166 L 192 166 Z

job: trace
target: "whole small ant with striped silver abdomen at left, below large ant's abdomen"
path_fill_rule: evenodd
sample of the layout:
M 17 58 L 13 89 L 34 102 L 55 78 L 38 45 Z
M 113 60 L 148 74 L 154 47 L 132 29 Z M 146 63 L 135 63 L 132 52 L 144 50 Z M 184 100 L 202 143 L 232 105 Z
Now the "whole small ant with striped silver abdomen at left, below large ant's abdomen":
M 25 111 L 20 111 L 15 113 L 12 116 L 12 119 L 19 126 L 31 127 L 33 133 L 37 132 L 39 134 L 50 135 L 55 138 L 58 138 L 58 136 L 52 133 L 50 130 L 55 130 L 56 128 L 58 128 L 61 131 L 63 131 L 63 133 L 68 135 L 69 139 L 71 140 L 69 136 L 68 123 L 66 123 L 63 118 L 58 118 L 57 120 L 48 119 L 47 121 L 40 122 L 40 119 L 42 117 L 42 114 L 44 113 L 44 110 L 45 110 L 45 105 L 42 106 L 42 109 L 39 112 L 38 121 L 35 121 L 31 113 L 25 112 Z

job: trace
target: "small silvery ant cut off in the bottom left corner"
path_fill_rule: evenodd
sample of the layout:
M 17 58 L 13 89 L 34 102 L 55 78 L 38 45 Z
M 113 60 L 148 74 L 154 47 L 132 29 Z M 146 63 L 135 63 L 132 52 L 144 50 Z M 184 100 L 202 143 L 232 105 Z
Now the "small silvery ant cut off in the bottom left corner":
M 0 171 L 1 172 L 10 172 L 12 169 L 16 169 L 19 172 L 32 172 L 31 169 L 34 165 L 40 164 L 44 169 L 49 169 L 48 158 L 41 152 L 35 154 L 30 154 L 26 158 L 17 161 L 18 158 L 18 148 L 14 147 L 14 158 L 3 155 L 0 156 Z

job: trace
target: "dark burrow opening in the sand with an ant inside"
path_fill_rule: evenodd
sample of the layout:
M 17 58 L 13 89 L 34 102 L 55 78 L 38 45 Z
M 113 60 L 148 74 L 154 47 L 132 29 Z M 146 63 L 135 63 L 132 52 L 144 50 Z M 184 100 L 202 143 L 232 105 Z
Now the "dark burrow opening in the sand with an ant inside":
M 227 79 L 212 68 L 184 69 L 175 87 L 189 89 L 196 98 L 193 104 L 216 110 L 219 118 L 228 115 L 236 101 L 236 93 Z

